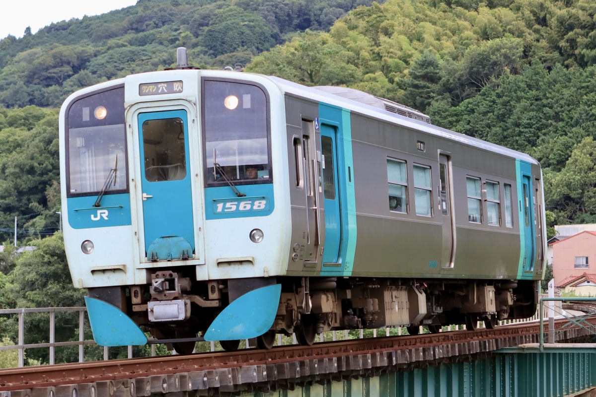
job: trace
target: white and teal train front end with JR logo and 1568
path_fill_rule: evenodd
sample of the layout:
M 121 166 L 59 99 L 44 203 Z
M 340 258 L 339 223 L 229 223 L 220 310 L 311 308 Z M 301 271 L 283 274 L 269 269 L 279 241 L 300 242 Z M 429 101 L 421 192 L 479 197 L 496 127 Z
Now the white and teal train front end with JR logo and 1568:
M 284 136 L 272 133 L 283 114 L 274 83 L 231 71 L 136 74 L 67 99 L 64 241 L 100 345 L 150 332 L 185 352 L 197 332 L 269 330 L 290 238 Z

